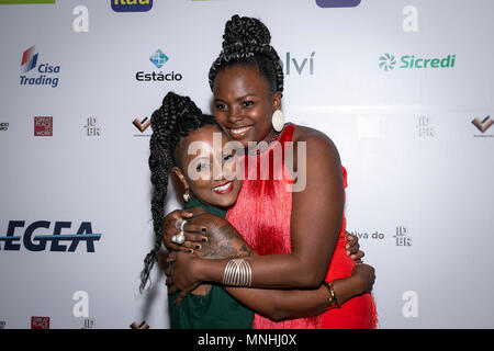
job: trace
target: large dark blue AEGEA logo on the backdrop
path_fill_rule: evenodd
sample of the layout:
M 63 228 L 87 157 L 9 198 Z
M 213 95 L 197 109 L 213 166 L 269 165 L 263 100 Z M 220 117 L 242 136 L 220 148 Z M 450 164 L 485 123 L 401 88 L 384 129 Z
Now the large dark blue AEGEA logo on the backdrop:
M 7 236 L 0 237 L 0 242 L 4 242 L 0 250 L 20 251 L 23 246 L 27 251 L 75 252 L 79 245 L 86 244 L 86 251 L 94 252 L 94 241 L 100 240 L 101 234 L 92 231 L 91 222 L 82 222 L 76 233 L 70 230 L 71 226 L 71 222 L 55 222 L 50 229 L 49 220 L 27 226 L 24 220 L 10 220 Z

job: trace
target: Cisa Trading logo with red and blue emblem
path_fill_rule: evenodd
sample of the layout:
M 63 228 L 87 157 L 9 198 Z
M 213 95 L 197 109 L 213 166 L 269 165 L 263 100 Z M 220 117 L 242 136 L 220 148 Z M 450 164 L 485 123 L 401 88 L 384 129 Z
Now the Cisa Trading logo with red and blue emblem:
M 60 72 L 60 66 L 43 63 L 37 65 L 38 54 L 35 53 L 35 47 L 31 46 L 24 53 L 21 58 L 21 72 L 20 76 L 21 86 L 50 86 L 52 88 L 58 87 L 58 73 Z M 34 68 L 37 69 L 35 70 Z M 34 70 L 34 72 L 33 72 Z M 37 71 L 38 75 L 35 72 Z

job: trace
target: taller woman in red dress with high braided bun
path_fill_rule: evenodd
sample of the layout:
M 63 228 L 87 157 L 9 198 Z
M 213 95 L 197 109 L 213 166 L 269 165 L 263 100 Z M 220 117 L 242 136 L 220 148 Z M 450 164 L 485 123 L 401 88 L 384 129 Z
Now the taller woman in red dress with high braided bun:
M 247 148 L 249 160 L 227 219 L 259 253 L 243 260 L 249 279 L 239 286 L 317 288 L 324 281 L 350 276 L 356 263 L 346 254 L 346 170 L 336 146 L 318 131 L 283 124 L 283 72 L 269 31 L 259 20 L 234 15 L 223 37 L 223 50 L 210 70 L 214 116 L 233 140 Z M 280 150 L 281 162 L 277 161 Z M 262 167 L 266 162 L 271 167 Z M 177 234 L 175 218 L 167 217 L 165 244 L 180 249 L 170 241 Z M 193 245 L 194 234 L 187 238 L 184 248 Z M 202 260 L 184 251 L 175 261 L 173 288 L 182 297 L 202 281 L 225 283 L 232 267 L 231 260 Z M 369 293 L 314 317 L 274 322 L 256 315 L 254 321 L 255 328 L 375 325 Z

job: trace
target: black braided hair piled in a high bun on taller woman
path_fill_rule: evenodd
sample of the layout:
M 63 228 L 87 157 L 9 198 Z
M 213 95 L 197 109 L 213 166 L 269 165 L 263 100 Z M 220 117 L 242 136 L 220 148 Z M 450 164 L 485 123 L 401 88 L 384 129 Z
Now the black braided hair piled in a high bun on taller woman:
M 210 68 L 211 90 L 222 69 L 245 65 L 258 67 L 259 72 L 268 81 L 271 93 L 283 92 L 283 68 L 278 53 L 270 43 L 271 34 L 260 20 L 233 15 L 225 25 L 223 50 Z

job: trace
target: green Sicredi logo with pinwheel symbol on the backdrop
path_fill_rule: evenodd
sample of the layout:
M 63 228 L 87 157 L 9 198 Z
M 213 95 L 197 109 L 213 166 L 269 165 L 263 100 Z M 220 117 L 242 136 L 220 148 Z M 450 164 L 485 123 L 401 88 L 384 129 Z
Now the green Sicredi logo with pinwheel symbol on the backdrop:
M 415 55 L 403 55 L 400 57 L 400 66 L 397 68 L 407 69 L 436 69 L 436 68 L 454 68 L 457 55 L 449 54 L 446 57 L 416 57 Z M 379 67 L 384 71 L 393 70 L 396 59 L 391 54 L 384 54 L 379 57 Z

